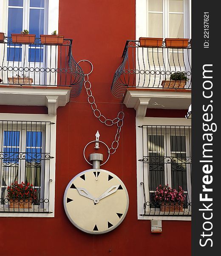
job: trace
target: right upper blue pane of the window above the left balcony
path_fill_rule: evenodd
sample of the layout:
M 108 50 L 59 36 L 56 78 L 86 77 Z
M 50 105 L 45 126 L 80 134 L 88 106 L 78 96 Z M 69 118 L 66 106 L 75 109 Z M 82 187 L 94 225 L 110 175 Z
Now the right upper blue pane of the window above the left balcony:
M 44 34 L 44 10 L 30 9 L 29 33 L 35 34 L 37 38 Z

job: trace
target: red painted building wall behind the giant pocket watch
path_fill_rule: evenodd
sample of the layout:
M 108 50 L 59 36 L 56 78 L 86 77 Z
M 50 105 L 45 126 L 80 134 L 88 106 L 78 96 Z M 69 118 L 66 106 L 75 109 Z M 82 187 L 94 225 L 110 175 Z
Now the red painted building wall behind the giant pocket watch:
M 113 119 L 125 113 L 119 148 L 104 169 L 115 173 L 127 187 L 127 215 L 115 230 L 90 235 L 74 227 L 65 215 L 63 195 L 69 181 L 91 167 L 83 158 L 85 145 L 100 140 L 111 145 L 116 126 L 105 126 L 94 116 L 86 90 L 57 109 L 57 153 L 54 218 L 0 218 L 0 255 L 8 256 L 188 256 L 191 248 L 190 221 L 162 221 L 162 233 L 150 233 L 150 221 L 137 219 L 136 112 L 111 94 L 113 74 L 122 61 L 127 39 L 135 39 L 135 0 L 65 0 L 59 4 L 59 33 L 74 39 L 76 61 L 94 65 L 89 76 L 91 90 L 101 113 Z M 82 69 L 90 70 L 82 63 Z M 46 113 L 44 107 L 0 106 L 1 113 Z M 151 110 L 147 116 L 184 117 L 184 111 Z M 175 116 L 174 116 L 175 115 Z M 91 151 L 93 147 L 91 147 Z M 92 152 L 88 151 L 88 154 Z

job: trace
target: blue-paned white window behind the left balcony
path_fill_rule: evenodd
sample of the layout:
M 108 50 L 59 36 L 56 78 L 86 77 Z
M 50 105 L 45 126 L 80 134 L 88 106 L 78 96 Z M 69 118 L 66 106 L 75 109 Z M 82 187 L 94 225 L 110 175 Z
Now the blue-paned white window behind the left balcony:
M 23 9 L 26 12 L 23 12 Z M 26 0 L 24 6 L 23 1 L 9 1 L 8 36 L 11 36 L 11 33 L 20 33 L 24 29 L 27 29 L 29 34 L 36 35 L 36 38 L 45 34 L 45 0 Z M 7 61 L 23 61 L 25 66 L 29 65 L 28 61 L 43 62 L 43 48 L 34 49 L 33 46 L 8 43 Z

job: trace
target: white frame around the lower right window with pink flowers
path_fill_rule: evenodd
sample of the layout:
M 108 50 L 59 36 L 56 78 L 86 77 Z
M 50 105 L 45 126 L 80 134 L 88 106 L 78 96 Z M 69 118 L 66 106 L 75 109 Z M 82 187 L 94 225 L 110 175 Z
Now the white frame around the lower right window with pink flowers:
M 154 218 L 154 219 L 159 219 L 159 220 L 190 221 L 191 216 L 185 216 L 185 215 L 181 215 L 181 216 L 179 216 L 179 215 L 141 216 L 140 215 L 140 214 L 144 214 L 144 207 L 143 207 L 144 206 L 144 194 L 143 194 L 144 192 L 143 192 L 142 183 L 145 184 L 146 178 L 145 177 L 143 178 L 143 162 L 139 161 L 139 159 L 142 159 L 143 155 L 147 155 L 147 151 L 146 152 L 143 151 L 143 141 L 145 140 L 143 138 L 143 131 L 141 128 L 138 127 L 138 126 L 142 126 L 142 125 L 173 125 L 173 126 L 190 125 L 191 126 L 191 120 L 185 119 L 185 118 L 136 117 L 137 218 L 139 220 L 151 220 Z M 187 150 L 187 148 L 186 148 L 186 150 Z M 144 174 L 145 174 L 145 172 L 144 172 Z M 188 192 L 191 194 L 191 189 Z

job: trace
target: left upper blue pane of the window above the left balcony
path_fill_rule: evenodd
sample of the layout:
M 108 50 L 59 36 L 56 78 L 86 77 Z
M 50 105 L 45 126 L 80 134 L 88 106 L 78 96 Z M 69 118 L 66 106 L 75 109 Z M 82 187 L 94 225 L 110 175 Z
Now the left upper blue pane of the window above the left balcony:
M 8 8 L 8 36 L 20 33 L 23 23 L 23 9 Z

